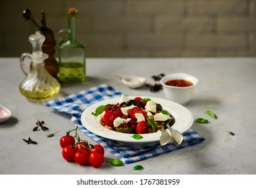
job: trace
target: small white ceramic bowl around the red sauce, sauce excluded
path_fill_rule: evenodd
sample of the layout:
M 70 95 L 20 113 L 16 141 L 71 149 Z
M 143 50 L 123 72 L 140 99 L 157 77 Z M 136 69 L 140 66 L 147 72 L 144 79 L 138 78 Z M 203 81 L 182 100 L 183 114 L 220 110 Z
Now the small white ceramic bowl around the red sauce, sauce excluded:
M 174 80 L 174 79 L 183 79 L 185 81 L 189 81 L 193 83 L 193 85 L 189 87 L 177 87 L 177 86 L 169 86 L 166 85 L 166 81 Z M 167 99 L 170 101 L 174 101 L 180 103 L 181 105 L 187 103 L 193 97 L 195 86 L 198 83 L 198 79 L 191 75 L 187 75 L 185 73 L 175 73 L 172 75 L 166 75 L 162 77 L 160 80 L 162 87 L 164 89 L 164 94 Z

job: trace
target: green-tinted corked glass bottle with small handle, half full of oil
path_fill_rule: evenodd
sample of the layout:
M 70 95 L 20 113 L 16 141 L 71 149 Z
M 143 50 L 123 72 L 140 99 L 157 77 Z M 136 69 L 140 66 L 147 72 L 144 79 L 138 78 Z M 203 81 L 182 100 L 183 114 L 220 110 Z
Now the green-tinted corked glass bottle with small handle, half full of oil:
M 59 31 L 59 81 L 64 83 L 82 83 L 86 81 L 86 52 L 84 45 L 76 39 L 75 26 L 77 9 L 69 8 L 68 26 Z M 67 34 L 67 40 L 61 36 Z

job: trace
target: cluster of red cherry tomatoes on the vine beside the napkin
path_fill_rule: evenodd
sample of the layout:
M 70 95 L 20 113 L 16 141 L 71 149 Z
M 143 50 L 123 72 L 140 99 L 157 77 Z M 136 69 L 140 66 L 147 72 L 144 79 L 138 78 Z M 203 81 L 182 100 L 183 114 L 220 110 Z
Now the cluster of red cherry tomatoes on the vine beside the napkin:
M 75 131 L 75 136 L 70 135 L 70 132 L 73 131 Z M 81 140 L 77 134 L 77 127 L 69 130 L 59 142 L 63 148 L 62 156 L 67 161 L 75 161 L 80 165 L 90 164 L 95 168 L 100 167 L 104 162 L 104 148 L 100 144 L 92 145 Z

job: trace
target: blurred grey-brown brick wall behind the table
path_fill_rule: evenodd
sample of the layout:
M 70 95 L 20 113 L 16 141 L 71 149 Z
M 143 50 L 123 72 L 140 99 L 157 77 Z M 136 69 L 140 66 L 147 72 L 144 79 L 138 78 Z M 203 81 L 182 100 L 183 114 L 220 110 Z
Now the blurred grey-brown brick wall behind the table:
M 57 40 L 69 7 L 88 57 L 256 56 L 256 0 L 0 0 L 0 56 L 31 52 L 25 8 Z

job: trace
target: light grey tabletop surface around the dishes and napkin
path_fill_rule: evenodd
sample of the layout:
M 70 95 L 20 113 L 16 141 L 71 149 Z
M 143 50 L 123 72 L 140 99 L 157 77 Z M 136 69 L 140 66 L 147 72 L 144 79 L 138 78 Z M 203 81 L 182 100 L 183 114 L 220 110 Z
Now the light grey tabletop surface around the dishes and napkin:
M 74 128 L 71 117 L 28 101 L 18 89 L 25 78 L 19 59 L 0 58 L 0 105 L 12 112 L 11 119 L 0 124 L 0 174 L 256 174 L 256 58 L 88 58 L 86 69 L 85 83 L 62 84 L 57 97 L 106 83 L 127 95 L 165 98 L 163 91 L 152 93 L 148 87 L 129 89 L 118 76 L 138 75 L 148 83 L 160 73 L 197 77 L 195 95 L 184 106 L 194 118 L 210 120 L 210 124 L 194 122 L 191 127 L 205 140 L 123 167 L 103 164 L 94 169 L 66 162 L 59 139 Z M 207 116 L 206 109 L 214 111 L 218 120 Z M 46 138 L 42 131 L 32 132 L 36 120 L 44 120 L 51 132 L 59 133 Z M 26 144 L 22 139 L 29 136 L 40 144 Z M 108 151 L 105 157 L 114 158 Z M 143 171 L 132 170 L 137 164 Z

